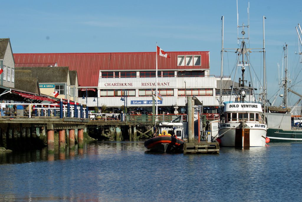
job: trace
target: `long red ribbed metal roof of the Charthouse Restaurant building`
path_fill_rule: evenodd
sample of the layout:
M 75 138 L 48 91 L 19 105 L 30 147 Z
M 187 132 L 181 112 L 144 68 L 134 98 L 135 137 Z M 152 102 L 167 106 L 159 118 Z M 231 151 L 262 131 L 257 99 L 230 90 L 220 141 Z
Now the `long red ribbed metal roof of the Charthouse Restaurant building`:
M 158 56 L 158 69 L 209 69 L 209 51 L 166 52 Z M 178 55 L 201 55 L 201 66 L 177 66 Z M 15 66 L 56 63 L 78 72 L 81 86 L 98 86 L 99 70 L 155 70 L 156 52 L 137 53 L 14 53 Z

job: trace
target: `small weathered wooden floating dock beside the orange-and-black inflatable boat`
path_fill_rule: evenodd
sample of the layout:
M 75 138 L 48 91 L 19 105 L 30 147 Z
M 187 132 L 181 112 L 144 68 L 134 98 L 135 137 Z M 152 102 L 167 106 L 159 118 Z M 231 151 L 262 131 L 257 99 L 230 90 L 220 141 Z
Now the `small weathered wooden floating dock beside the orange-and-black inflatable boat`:
M 207 141 L 185 143 L 184 154 L 219 154 L 219 143 Z

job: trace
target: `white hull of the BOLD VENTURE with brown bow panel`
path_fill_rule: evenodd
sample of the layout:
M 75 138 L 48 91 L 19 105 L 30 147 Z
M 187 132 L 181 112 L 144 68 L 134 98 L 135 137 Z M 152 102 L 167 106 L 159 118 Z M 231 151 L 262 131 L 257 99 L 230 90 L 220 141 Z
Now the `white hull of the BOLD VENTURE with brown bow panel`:
M 246 130 L 245 133 L 244 130 Z M 267 126 L 259 123 L 246 123 L 245 129 L 240 128 L 240 123 L 223 123 L 220 124 L 218 138 L 221 141 L 221 146 L 265 146 L 266 130 Z

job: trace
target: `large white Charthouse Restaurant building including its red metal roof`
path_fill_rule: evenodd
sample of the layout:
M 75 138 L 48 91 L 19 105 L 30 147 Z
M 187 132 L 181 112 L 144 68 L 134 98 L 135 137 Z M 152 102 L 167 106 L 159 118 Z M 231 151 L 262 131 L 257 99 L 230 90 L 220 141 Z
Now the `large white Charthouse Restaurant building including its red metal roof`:
M 210 75 L 209 52 L 166 53 L 170 58 L 158 56 L 158 91 L 163 97 L 158 103 L 159 113 L 174 113 L 175 106 L 178 113 L 185 113 L 185 96 L 196 96 L 208 109 L 217 108 L 219 78 Z M 152 111 L 156 52 L 15 53 L 14 59 L 17 67 L 53 64 L 53 68 L 68 66 L 69 70 L 76 70 L 79 103 L 87 103 L 89 107 L 106 105 L 116 112 L 125 103 L 128 111 Z

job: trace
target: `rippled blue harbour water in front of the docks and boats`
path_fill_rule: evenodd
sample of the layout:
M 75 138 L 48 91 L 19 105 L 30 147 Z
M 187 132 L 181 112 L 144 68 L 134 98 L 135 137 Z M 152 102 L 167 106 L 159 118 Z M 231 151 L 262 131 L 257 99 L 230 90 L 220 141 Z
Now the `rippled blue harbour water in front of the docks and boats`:
M 0 201 L 301 201 L 302 144 L 220 154 L 145 152 L 98 142 L 47 155 L 0 154 Z

